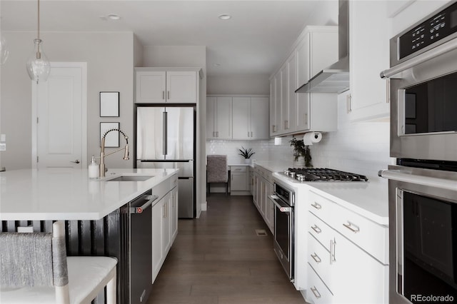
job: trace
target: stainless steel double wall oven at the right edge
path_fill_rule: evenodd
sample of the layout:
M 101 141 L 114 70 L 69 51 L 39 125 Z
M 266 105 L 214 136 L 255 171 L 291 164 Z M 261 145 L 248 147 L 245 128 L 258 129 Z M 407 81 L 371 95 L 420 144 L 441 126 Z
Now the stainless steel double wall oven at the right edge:
M 390 41 L 389 303 L 457 301 L 457 3 Z

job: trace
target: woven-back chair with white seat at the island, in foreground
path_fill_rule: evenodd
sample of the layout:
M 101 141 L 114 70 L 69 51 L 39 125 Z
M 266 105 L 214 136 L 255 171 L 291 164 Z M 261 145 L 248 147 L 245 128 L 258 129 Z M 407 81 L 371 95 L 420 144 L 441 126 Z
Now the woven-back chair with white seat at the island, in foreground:
M 106 286 L 116 303 L 115 258 L 66 256 L 63 221 L 52 233 L 0 233 L 0 303 L 91 303 Z

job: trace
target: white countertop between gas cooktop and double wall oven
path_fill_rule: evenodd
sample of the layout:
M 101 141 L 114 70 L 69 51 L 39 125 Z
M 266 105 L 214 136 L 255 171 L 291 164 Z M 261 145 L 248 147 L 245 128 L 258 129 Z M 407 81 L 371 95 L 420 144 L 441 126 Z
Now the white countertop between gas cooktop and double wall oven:
M 313 191 L 371 221 L 388 226 L 388 181 L 384 178 L 368 176 L 367 182 L 301 182 L 282 173 L 273 173 L 273 178 L 298 191 L 301 188 Z

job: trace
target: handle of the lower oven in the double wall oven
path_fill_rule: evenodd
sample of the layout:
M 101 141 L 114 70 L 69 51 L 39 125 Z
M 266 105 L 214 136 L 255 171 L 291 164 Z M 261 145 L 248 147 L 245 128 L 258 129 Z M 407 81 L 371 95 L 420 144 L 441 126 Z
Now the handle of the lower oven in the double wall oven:
M 400 170 L 381 170 L 378 176 L 388 178 L 393 181 L 404 181 L 406 183 L 416 183 L 421 186 L 429 186 L 446 190 L 456 191 L 457 181 L 444 178 L 433 178 L 430 176 L 418 176 L 416 174 L 405 173 Z

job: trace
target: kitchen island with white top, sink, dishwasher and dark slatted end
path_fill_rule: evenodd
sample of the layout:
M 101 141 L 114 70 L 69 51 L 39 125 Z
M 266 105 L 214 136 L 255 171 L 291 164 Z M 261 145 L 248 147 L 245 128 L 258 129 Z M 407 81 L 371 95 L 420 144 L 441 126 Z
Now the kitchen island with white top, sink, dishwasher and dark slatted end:
M 141 303 L 176 238 L 178 171 L 110 169 L 96 179 L 86 169 L 1 172 L 1 231 L 50 232 L 53 221 L 65 221 L 67 255 L 116 257 L 117 303 Z M 151 207 L 139 211 L 134 201 Z

